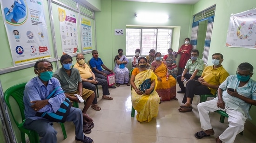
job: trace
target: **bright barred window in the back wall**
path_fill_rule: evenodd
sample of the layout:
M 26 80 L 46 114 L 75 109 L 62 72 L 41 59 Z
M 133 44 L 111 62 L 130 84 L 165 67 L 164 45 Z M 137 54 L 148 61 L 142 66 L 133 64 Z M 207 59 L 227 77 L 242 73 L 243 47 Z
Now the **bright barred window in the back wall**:
M 126 55 L 134 56 L 140 49 L 142 56 L 147 56 L 150 49 L 166 55 L 171 48 L 172 29 L 126 28 Z

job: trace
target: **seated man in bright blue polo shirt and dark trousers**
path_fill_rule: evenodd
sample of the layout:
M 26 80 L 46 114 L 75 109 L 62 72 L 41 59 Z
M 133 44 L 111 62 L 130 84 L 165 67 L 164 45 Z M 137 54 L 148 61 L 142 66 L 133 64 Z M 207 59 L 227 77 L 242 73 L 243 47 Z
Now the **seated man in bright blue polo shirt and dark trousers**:
M 93 55 L 93 57 L 91 58 L 89 64 L 90 64 L 91 68 L 93 69 L 93 73 L 94 73 L 95 77 L 101 78 L 103 80 L 107 80 L 107 75 L 113 73 L 113 71 L 104 65 L 101 58 L 98 57 L 99 54 L 98 54 L 97 50 L 93 50 L 92 55 Z M 103 70 L 102 68 L 104 68 L 105 70 Z M 111 86 L 108 88 L 116 88 L 116 87 Z

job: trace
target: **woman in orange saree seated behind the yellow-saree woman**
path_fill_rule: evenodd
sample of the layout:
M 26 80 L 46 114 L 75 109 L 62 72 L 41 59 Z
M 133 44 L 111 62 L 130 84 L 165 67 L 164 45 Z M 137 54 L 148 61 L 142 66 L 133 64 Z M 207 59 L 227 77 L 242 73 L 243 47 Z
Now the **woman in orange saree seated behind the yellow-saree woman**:
M 167 64 L 162 61 L 160 52 L 155 53 L 155 61 L 151 63 L 150 68 L 154 71 L 157 76 L 157 89 L 156 92 L 159 94 L 161 101 L 170 100 L 176 98 L 176 80 L 172 75 L 169 75 Z

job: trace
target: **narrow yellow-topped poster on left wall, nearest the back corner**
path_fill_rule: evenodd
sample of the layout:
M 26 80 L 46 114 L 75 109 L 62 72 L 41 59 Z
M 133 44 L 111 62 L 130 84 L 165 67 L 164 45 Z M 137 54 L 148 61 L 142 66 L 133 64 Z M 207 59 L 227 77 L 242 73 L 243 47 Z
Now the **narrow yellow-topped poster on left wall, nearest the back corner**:
M 81 33 L 83 52 L 92 51 L 92 29 L 91 21 L 81 15 Z

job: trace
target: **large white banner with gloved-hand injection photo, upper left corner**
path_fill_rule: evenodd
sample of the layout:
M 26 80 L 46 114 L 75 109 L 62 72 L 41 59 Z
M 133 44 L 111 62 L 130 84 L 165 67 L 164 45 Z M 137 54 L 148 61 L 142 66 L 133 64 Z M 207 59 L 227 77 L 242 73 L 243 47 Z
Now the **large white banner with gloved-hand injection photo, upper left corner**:
M 0 0 L 13 64 L 50 58 L 43 0 Z

